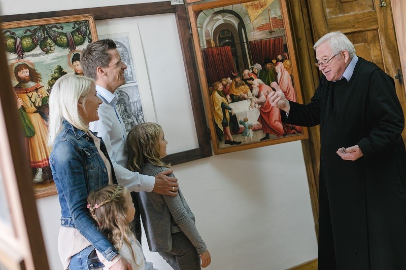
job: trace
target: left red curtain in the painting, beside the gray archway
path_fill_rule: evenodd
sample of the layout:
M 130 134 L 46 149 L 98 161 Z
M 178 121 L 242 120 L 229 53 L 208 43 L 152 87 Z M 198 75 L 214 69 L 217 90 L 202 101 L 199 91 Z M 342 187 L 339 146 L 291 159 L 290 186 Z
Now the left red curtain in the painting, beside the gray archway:
M 209 84 L 236 74 L 230 46 L 202 49 L 201 52 Z

